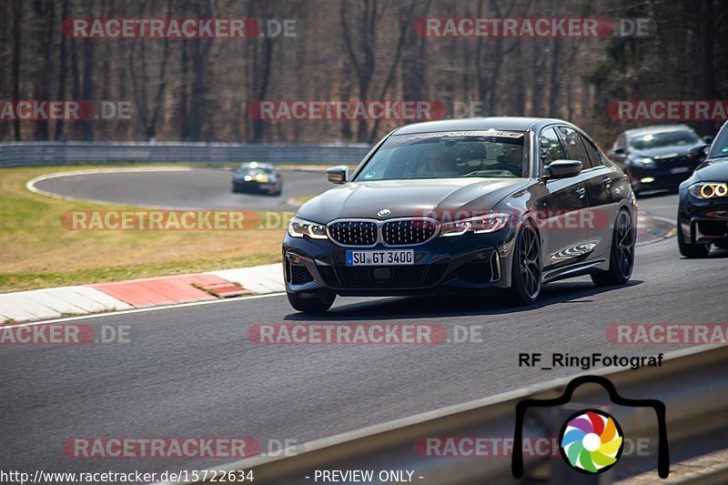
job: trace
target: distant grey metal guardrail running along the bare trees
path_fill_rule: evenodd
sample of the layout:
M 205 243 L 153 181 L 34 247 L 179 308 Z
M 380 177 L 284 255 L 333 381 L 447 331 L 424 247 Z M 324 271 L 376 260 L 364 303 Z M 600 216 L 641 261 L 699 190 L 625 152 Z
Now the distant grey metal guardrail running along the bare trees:
M 241 162 L 358 164 L 371 147 L 355 145 L 238 145 L 230 143 L 18 142 L 0 144 L 0 167 L 88 163 Z

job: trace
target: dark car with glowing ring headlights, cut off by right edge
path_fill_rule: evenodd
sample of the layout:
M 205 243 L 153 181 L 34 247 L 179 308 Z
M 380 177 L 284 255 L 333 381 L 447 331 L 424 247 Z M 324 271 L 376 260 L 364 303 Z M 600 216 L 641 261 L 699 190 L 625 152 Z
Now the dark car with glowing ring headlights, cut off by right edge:
M 680 184 L 677 242 L 682 256 L 704 258 L 713 245 L 728 248 L 728 122 L 712 146 L 690 151 L 703 163 Z

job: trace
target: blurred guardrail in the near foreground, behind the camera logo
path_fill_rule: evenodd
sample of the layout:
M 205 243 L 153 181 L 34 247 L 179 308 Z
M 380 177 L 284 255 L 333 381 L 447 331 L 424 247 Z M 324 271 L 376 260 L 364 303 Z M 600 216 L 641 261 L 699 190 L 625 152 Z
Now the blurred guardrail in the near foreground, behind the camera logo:
M 600 369 L 591 375 L 610 379 L 624 398 L 662 400 L 667 409 L 671 456 L 676 458 L 684 453 L 694 455 L 695 444 L 704 444 L 711 436 L 713 440 L 715 436 L 725 436 L 719 431 L 728 427 L 728 372 L 725 369 L 728 369 L 728 347 L 723 346 L 675 352 L 667 356 L 660 368 L 617 372 Z M 519 401 L 559 397 L 570 380 L 554 379 L 500 396 L 310 441 L 298 445 L 293 453 L 283 458 L 259 456 L 216 470 L 252 470 L 255 483 L 262 484 L 310 484 L 314 482 L 314 470 L 415 470 L 416 480 L 413 481 L 426 484 L 512 483 L 510 456 L 429 457 L 418 453 L 415 444 L 424 437 L 512 437 Z M 594 404 L 603 403 L 607 400 L 604 398 L 605 391 L 592 384 L 585 384 L 574 394 L 578 409 L 588 407 L 589 403 L 592 408 L 605 409 L 601 404 Z M 622 429 L 629 429 L 631 436 L 657 442 L 654 412 L 622 407 L 606 410 L 621 423 Z M 563 420 L 553 419 L 553 415 L 527 413 L 523 436 L 558 436 L 559 430 L 547 423 L 561 425 Z M 650 466 L 656 468 L 656 453 L 650 460 Z M 634 459 L 632 463 L 635 461 L 642 461 L 642 470 L 634 470 L 634 473 L 649 470 L 649 466 L 644 468 L 644 460 Z M 565 468 L 561 458 L 526 457 L 524 477 L 527 482 L 538 478 L 552 483 L 610 483 L 614 480 L 613 470 L 619 469 L 620 463 L 622 460 L 612 470 L 591 477 L 566 469 L 569 475 L 565 477 L 559 476 L 559 470 Z M 659 480 L 657 471 L 652 472 L 655 481 Z

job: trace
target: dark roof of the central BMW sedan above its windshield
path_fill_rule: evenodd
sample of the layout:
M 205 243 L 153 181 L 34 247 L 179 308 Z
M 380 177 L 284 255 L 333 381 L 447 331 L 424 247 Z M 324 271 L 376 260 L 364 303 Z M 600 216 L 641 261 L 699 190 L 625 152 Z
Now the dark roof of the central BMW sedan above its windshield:
M 503 131 L 531 131 L 553 123 L 571 125 L 571 123 L 556 118 L 491 116 L 487 118 L 443 119 L 440 121 L 414 123 L 412 125 L 402 126 L 395 131 L 395 134 L 410 135 L 413 133 L 432 133 L 436 131 L 487 130 L 488 128 Z

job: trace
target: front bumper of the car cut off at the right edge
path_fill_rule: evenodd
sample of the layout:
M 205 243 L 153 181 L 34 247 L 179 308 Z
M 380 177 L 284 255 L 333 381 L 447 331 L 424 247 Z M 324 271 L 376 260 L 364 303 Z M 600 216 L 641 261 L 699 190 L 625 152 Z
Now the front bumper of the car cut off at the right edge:
M 681 190 L 680 200 L 678 222 L 683 242 L 704 244 L 728 238 L 728 200 L 702 200 L 687 189 Z

